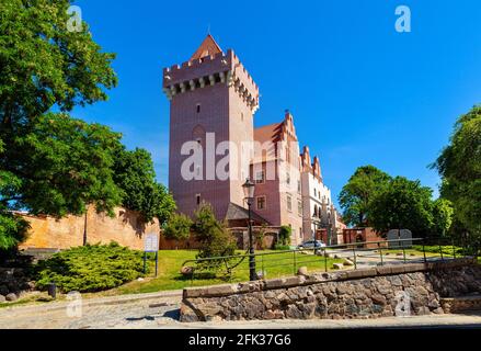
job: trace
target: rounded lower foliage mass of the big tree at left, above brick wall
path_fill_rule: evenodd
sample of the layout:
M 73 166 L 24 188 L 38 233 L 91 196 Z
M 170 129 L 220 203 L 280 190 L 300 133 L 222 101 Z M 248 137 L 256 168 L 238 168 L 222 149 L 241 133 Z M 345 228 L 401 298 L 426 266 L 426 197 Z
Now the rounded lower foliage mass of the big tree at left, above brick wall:
M 1 201 L 33 214 L 83 214 L 88 204 L 112 212 L 122 203 L 114 176 L 121 135 L 100 124 L 47 113 L 15 135 L 0 159 L 10 174 Z

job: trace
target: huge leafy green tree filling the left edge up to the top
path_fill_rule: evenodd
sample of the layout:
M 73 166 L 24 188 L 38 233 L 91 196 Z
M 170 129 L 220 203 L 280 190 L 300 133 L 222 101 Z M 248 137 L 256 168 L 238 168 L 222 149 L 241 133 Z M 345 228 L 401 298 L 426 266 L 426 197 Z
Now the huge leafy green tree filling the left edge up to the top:
M 102 53 L 87 23 L 69 32 L 69 0 L 0 2 L 0 241 L 11 248 L 25 223 L 11 211 L 62 216 L 85 203 L 118 204 L 112 155 L 118 136 L 62 112 L 107 99 L 116 86 L 113 54 Z M 72 135 L 69 133 L 72 132 Z

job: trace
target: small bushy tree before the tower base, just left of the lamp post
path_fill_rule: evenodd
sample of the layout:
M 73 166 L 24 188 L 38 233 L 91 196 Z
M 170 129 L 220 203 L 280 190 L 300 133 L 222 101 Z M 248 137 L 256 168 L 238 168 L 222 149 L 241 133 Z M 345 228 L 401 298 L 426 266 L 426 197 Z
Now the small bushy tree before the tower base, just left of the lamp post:
M 236 253 L 236 241 L 227 230 L 226 225 L 216 219 L 213 207 L 201 204 L 195 212 L 193 234 L 201 244 L 198 259 L 233 256 Z M 219 265 L 221 262 L 217 262 Z

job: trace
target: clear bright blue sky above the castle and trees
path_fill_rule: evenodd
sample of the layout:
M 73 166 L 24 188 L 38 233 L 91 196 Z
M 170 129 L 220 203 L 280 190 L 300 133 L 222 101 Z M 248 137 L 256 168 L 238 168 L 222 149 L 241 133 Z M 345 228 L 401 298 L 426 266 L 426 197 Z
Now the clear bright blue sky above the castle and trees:
M 107 102 L 73 115 L 152 152 L 167 184 L 169 101 L 162 68 L 187 60 L 210 33 L 233 48 L 261 90 L 255 125 L 294 114 L 337 197 L 358 166 L 420 179 L 448 143 L 456 118 L 481 102 L 481 1 L 79 0 L 94 39 L 117 58 Z M 394 30 L 409 5 L 412 32 Z

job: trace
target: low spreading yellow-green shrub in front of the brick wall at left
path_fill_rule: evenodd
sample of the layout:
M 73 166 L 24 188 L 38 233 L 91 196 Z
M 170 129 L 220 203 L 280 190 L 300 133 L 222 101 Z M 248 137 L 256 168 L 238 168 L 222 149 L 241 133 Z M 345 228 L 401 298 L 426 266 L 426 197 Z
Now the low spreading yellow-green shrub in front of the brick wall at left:
M 39 290 L 46 290 L 55 282 L 64 293 L 108 290 L 142 275 L 142 252 L 116 242 L 72 248 L 35 267 Z

